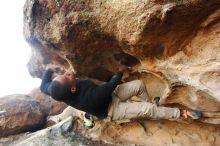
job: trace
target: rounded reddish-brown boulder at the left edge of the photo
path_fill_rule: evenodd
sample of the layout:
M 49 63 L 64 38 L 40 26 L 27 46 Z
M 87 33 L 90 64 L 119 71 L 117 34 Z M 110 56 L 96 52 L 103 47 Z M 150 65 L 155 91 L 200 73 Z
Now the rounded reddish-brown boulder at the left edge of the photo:
M 33 131 L 42 127 L 45 114 L 40 104 L 27 95 L 8 95 L 0 100 L 0 136 Z

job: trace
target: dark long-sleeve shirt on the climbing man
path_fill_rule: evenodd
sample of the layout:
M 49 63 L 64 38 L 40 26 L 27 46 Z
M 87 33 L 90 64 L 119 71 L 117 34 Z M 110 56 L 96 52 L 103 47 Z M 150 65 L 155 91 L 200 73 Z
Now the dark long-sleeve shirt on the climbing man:
M 48 87 L 52 82 L 53 71 L 47 70 L 42 78 L 40 89 L 42 92 L 50 95 Z M 76 80 L 76 92 L 69 93 L 63 98 L 66 104 L 95 115 L 103 119 L 107 116 L 108 107 L 112 100 L 112 92 L 118 85 L 123 73 L 117 72 L 109 82 L 102 85 L 96 85 L 91 80 Z

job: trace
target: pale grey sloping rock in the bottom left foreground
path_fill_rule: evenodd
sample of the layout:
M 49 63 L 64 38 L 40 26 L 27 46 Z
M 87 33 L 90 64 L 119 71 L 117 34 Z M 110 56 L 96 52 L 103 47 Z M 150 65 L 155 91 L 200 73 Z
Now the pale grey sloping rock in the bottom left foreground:
M 52 127 L 35 133 L 26 133 L 0 139 L 0 146 L 112 146 L 89 140 L 73 132 L 72 125 L 74 122 L 75 119 L 73 117 L 68 117 Z

